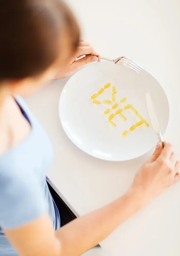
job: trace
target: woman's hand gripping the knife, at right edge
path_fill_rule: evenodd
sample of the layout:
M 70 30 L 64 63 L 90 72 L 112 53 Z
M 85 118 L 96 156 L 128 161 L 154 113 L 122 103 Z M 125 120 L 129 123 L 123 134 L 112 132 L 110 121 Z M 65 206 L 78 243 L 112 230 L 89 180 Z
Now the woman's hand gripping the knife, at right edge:
M 131 192 L 139 194 L 143 203 L 160 195 L 166 188 L 180 181 L 180 161 L 170 143 L 158 143 L 154 154 L 137 172 Z

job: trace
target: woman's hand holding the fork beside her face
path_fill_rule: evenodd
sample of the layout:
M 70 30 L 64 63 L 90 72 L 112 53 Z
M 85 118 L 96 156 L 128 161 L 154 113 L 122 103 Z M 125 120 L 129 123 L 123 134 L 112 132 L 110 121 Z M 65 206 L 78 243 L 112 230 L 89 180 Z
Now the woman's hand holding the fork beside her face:
M 83 55 L 85 55 L 83 58 L 76 60 Z M 100 61 L 97 56 L 99 56 L 99 54 L 93 49 L 92 46 L 90 46 L 89 43 L 85 42 L 84 40 L 80 40 L 75 55 L 72 57 L 69 63 L 64 64 L 64 68 L 57 73 L 55 79 L 61 79 L 70 76 L 73 72 L 83 67 L 84 65 L 91 62 Z

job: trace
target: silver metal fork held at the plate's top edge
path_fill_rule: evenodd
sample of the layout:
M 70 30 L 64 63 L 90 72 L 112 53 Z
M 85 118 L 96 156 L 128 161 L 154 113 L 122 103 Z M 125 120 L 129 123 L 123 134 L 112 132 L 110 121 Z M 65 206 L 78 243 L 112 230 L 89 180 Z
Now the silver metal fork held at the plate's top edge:
M 115 60 L 110 58 L 105 58 L 102 56 L 98 56 L 98 58 L 106 61 L 113 61 L 115 64 L 128 67 L 131 70 L 135 71 L 136 73 L 140 73 L 142 70 L 142 68 L 139 67 L 134 61 L 131 61 L 129 58 L 126 58 L 126 57 L 119 57 L 119 58 L 116 58 Z

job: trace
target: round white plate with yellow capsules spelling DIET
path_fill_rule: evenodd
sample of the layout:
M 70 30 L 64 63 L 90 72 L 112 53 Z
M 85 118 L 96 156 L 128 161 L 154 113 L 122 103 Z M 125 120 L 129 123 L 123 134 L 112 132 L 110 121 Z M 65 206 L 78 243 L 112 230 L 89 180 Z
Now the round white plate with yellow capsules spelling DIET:
M 157 135 L 150 124 L 149 127 L 141 125 L 122 137 L 123 131 L 140 121 L 131 109 L 123 111 L 127 117 L 126 121 L 115 115 L 113 122 L 117 126 L 110 125 L 108 117 L 118 108 L 104 115 L 110 105 L 96 105 L 90 99 L 107 83 L 111 83 L 111 86 L 98 96 L 97 100 L 102 102 L 103 99 L 111 99 L 114 85 L 117 90 L 117 103 L 127 97 L 127 101 L 119 103 L 118 108 L 131 103 L 150 123 L 145 103 L 145 92 L 148 90 L 157 111 L 162 134 L 165 133 L 169 120 L 169 105 L 160 83 L 145 70 L 137 74 L 127 67 L 108 61 L 84 67 L 67 82 L 59 102 L 61 124 L 70 140 L 87 154 L 110 161 L 134 159 L 156 145 Z

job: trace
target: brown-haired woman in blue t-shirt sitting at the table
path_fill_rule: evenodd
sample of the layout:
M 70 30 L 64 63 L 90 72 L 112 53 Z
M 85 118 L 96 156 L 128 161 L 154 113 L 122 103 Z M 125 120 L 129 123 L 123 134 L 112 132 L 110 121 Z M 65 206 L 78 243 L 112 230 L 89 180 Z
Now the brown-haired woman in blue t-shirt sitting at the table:
M 51 144 L 17 95 L 98 61 L 98 54 L 79 41 L 78 24 L 62 0 L 0 5 L 0 256 L 78 256 L 179 181 L 180 162 L 171 144 L 158 143 L 125 195 L 60 228 L 61 211 L 46 183 Z M 87 56 L 75 61 L 81 55 Z

